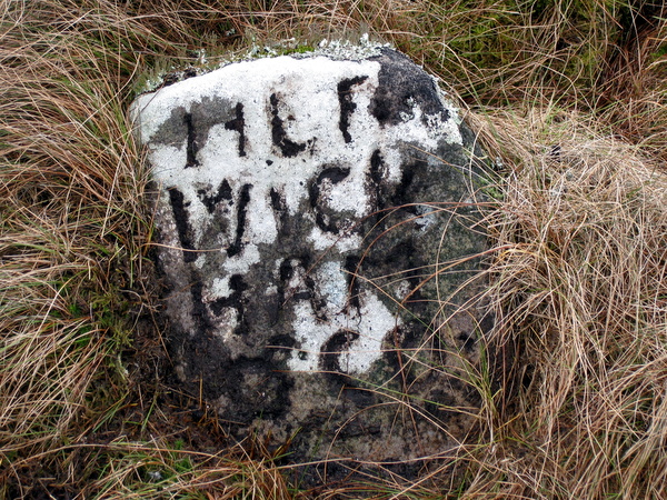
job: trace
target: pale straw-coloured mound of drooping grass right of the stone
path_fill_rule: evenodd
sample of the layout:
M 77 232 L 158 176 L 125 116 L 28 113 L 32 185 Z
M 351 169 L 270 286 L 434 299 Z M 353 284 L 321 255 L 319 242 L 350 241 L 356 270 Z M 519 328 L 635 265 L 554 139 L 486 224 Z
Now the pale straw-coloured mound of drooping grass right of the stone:
M 575 113 L 499 111 L 489 122 L 509 167 L 489 219 L 501 249 L 490 269 L 492 340 L 514 366 L 496 429 L 502 439 L 479 459 L 468 494 L 660 498 L 664 164 Z

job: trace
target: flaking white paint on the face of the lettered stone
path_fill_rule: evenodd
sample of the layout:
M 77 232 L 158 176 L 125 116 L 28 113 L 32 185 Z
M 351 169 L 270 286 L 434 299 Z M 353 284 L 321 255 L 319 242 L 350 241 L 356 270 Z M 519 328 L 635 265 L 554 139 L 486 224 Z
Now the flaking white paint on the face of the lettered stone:
M 321 203 L 341 214 L 341 231 L 328 232 L 313 224 L 307 238 L 317 251 L 331 247 L 341 252 L 350 251 L 361 246 L 361 234 L 352 231 L 355 224 L 374 210 L 366 178 L 376 151 L 382 151 L 387 169 L 385 181 L 397 183 L 405 162 L 399 153 L 399 144 L 416 143 L 430 150 L 437 149 L 442 141 L 461 144 L 457 110 L 445 99 L 441 104 L 448 111 L 446 120 L 440 113 L 425 116 L 412 101 L 411 111 L 401 114 L 400 123 L 392 127 L 380 123 L 369 111 L 370 100 L 379 86 L 380 69 L 380 63 L 372 60 L 279 57 L 229 64 L 156 93 L 141 96 L 136 101 L 132 113 L 141 142 L 149 147 L 153 179 L 162 189 L 176 188 L 182 193 L 183 204 L 188 206 L 195 247 L 200 248 L 206 228 L 215 218 L 221 217 L 207 210 L 198 191 L 215 192 L 216 187 L 227 181 L 235 193 L 235 202 L 239 203 L 238 193 L 242 186 L 252 183 L 246 210 L 243 248 L 225 260 L 222 267 L 227 276 L 246 273 L 258 263 L 261 259 L 259 244 L 279 244 L 280 222 L 271 208 L 271 190 L 280 192 L 289 214 L 298 217 L 301 203 L 309 196 L 307 180 L 316 177 L 326 164 L 349 168 L 349 174 L 344 180 L 325 182 L 319 192 Z M 361 81 L 350 86 L 350 102 L 355 108 L 348 116 L 344 133 L 337 86 L 355 79 Z M 279 96 L 279 100 L 271 102 L 273 96 Z M 188 137 L 180 142 L 166 143 L 159 139 L 159 131 L 172 119 L 175 109 L 182 108 L 185 113 L 192 113 L 193 106 L 206 108 L 207 102 L 227 103 L 230 116 L 239 103 L 242 104 L 243 154 L 238 153 L 240 132 L 220 122 L 208 129 L 206 138 L 198 138 L 198 166 L 185 168 L 188 163 Z M 286 156 L 276 141 L 270 140 L 271 122 L 276 117 L 285 124 L 286 141 L 299 144 L 302 151 L 292 157 Z M 162 198 L 162 203 L 167 206 L 166 191 Z M 302 213 L 302 217 L 312 219 L 313 214 Z M 220 252 L 233 243 L 233 236 L 238 231 L 235 212 L 228 213 L 226 221 L 229 230 L 222 233 L 219 241 Z M 346 287 L 340 264 L 323 279 L 329 288 L 344 290 Z M 203 296 L 208 301 L 230 294 L 225 277 L 213 278 L 205 288 Z M 301 351 L 312 354 L 301 359 L 295 350 L 289 368 L 296 371 L 317 370 L 316 354 L 327 339 L 339 329 L 352 328 L 359 330 L 359 338 L 351 342 L 346 352 L 345 364 L 349 372 L 366 371 L 380 357 L 382 338 L 399 320 L 372 292 L 365 292 L 360 300 L 361 317 L 358 317 L 359 313 L 350 316 L 337 311 L 337 308 L 342 309 L 340 299 L 331 300 L 327 306 L 331 316 L 328 324 L 319 322 L 308 306 L 295 306 L 295 334 L 302 343 Z M 227 311 L 226 317 L 233 314 Z

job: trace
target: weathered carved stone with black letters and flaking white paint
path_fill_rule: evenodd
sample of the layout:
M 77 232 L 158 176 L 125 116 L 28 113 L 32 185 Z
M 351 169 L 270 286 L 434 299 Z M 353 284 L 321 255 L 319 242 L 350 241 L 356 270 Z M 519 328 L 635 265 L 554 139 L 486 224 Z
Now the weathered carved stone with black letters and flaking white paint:
M 159 263 L 181 382 L 233 436 L 293 460 L 412 460 L 470 422 L 474 137 L 432 78 L 355 60 L 229 64 L 133 106 L 159 184 Z M 464 259 L 451 267 L 450 262 Z M 456 271 L 456 272 L 455 272 Z M 452 298 L 454 297 L 454 298 Z M 409 470 L 406 470 L 409 473 Z

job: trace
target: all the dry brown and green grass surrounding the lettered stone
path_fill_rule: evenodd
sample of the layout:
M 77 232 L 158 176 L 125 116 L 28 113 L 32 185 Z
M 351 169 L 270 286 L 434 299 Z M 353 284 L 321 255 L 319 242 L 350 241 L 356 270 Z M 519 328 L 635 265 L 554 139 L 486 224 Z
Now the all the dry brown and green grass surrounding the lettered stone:
M 651 1 L 0 2 L 0 498 L 663 498 L 667 12 Z M 148 68 L 390 41 L 462 99 L 504 183 L 478 433 L 402 484 L 312 489 L 163 379 Z M 434 200 L 437 202 L 438 200 Z M 496 351 L 497 350 L 497 351 Z M 186 409 L 186 410 L 183 410 Z

